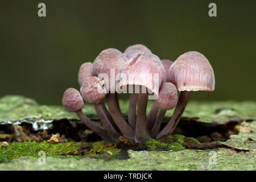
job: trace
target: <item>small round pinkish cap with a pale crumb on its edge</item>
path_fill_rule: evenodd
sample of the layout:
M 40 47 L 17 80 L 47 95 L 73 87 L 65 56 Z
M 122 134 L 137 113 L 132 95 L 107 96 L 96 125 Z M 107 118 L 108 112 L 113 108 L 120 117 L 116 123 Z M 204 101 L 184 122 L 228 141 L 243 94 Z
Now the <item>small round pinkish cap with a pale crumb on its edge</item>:
M 106 96 L 106 89 L 104 87 L 104 80 L 96 76 L 85 78 L 80 88 L 82 98 L 90 104 L 98 104 Z

